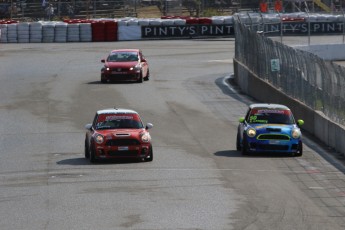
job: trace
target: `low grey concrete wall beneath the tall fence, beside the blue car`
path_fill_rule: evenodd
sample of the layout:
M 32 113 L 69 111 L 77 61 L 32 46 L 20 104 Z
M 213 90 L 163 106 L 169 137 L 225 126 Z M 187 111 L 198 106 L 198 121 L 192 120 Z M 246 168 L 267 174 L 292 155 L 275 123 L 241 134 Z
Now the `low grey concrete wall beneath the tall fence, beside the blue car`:
M 329 120 L 320 111 L 314 111 L 300 101 L 293 99 L 275 88 L 269 82 L 252 73 L 245 65 L 233 61 L 234 80 L 241 90 L 254 99 L 265 103 L 278 103 L 288 106 L 295 119 L 303 119 L 302 130 L 315 136 L 325 145 L 334 148 L 345 156 L 345 127 Z

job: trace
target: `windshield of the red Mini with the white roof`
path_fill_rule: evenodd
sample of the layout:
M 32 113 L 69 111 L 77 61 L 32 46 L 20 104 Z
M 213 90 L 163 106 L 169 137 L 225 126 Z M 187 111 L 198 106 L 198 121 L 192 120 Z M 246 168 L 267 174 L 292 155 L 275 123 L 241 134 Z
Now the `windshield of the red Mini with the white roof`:
M 96 129 L 141 129 L 142 122 L 132 115 L 107 115 L 100 116 L 96 123 Z

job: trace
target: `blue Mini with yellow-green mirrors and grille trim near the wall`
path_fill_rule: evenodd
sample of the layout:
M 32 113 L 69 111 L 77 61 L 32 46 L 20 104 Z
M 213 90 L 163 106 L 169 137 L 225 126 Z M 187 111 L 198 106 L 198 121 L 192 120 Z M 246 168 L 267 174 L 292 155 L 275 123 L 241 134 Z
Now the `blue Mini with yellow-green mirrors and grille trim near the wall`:
M 291 110 L 279 104 L 252 104 L 239 119 L 236 148 L 243 155 L 251 152 L 282 152 L 302 156 L 302 134 Z

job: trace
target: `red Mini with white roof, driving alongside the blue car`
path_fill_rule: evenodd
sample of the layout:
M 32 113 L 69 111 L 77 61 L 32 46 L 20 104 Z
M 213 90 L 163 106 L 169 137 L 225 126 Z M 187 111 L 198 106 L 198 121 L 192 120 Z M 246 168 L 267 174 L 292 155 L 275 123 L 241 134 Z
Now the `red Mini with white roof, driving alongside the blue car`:
M 96 112 L 92 124 L 85 125 L 85 158 L 153 160 L 151 123 L 143 125 L 139 114 L 129 109 L 104 109 Z

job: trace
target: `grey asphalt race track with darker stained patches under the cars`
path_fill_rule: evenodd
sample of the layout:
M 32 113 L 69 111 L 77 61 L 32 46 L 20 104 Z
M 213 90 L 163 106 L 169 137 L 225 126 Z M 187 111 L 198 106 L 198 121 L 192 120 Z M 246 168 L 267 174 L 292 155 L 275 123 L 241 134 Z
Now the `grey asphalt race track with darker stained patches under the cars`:
M 101 84 L 127 47 L 150 81 Z M 309 137 L 297 158 L 236 151 L 253 101 L 227 84 L 233 56 L 231 38 L 2 44 L 0 229 L 345 229 L 336 154 Z M 114 106 L 154 124 L 152 162 L 84 159 L 84 125 Z

